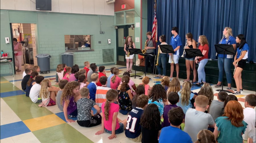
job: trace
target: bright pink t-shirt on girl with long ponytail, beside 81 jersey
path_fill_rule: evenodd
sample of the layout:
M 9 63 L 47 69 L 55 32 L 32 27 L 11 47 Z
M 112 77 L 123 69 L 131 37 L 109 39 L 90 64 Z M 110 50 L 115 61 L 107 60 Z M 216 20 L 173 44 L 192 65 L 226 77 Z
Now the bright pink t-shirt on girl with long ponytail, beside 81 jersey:
M 112 118 L 113 118 L 113 114 L 114 112 L 118 112 L 119 111 L 119 105 L 118 104 L 115 104 L 115 103 L 110 103 L 110 109 L 108 111 L 109 115 L 108 115 L 108 121 L 105 120 L 105 115 L 104 115 L 104 112 L 105 112 L 105 103 L 106 102 L 103 102 L 102 105 L 101 105 L 101 110 L 102 110 L 102 114 L 103 114 L 103 117 L 104 117 L 104 126 L 105 126 L 105 129 L 109 130 L 109 131 L 112 131 Z M 115 126 L 115 130 L 119 129 L 120 125 L 117 121 L 117 118 L 116 118 L 116 126 Z

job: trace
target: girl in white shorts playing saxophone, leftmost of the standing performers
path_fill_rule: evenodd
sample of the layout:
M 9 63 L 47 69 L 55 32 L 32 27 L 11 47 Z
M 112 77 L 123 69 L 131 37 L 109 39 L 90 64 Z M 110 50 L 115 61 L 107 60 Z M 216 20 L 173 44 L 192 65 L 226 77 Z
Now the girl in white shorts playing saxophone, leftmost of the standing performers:
M 129 52 L 128 49 L 131 49 L 131 48 L 135 48 L 135 44 L 133 43 L 131 36 L 127 36 L 125 39 L 125 45 L 124 45 L 123 50 L 125 51 L 126 68 L 127 68 L 127 72 L 129 72 L 129 73 L 132 73 L 131 68 L 133 66 L 133 58 L 134 58 L 134 54 L 130 54 L 127 57 L 127 54 Z M 130 62 L 130 64 L 129 64 L 129 62 Z M 130 68 L 129 68 L 129 65 L 130 65 Z

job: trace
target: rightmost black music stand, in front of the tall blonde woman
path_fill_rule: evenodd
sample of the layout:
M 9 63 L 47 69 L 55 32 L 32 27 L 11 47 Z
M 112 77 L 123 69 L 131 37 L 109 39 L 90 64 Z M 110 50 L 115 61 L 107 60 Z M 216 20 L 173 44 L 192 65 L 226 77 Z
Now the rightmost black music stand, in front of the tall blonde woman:
M 224 60 L 225 60 L 225 55 L 236 55 L 235 53 L 235 50 L 234 50 L 234 47 L 233 45 L 230 45 L 230 44 L 216 44 L 214 45 L 215 46 L 215 50 L 218 54 L 223 54 L 224 55 L 224 58 L 223 58 L 223 67 L 222 67 L 222 88 L 221 89 L 218 89 L 216 91 L 225 91 L 225 92 L 228 92 L 228 93 L 233 93 L 233 92 L 230 92 L 228 90 L 223 90 L 223 78 L 224 78 Z

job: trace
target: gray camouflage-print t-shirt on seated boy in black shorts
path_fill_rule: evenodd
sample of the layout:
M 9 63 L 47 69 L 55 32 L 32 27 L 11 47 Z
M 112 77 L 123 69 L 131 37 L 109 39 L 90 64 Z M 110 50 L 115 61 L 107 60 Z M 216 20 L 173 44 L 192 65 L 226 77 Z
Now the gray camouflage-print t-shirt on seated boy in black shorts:
M 92 99 L 88 99 L 88 98 L 78 99 L 78 101 L 77 101 L 77 111 L 78 111 L 77 120 L 79 120 L 79 121 L 92 120 L 91 110 L 94 105 L 96 105 L 96 103 Z

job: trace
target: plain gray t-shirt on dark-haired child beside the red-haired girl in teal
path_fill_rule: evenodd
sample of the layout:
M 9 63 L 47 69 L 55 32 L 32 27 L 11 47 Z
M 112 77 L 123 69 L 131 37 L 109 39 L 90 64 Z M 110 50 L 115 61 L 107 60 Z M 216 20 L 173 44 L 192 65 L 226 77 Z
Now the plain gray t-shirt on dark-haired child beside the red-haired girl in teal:
M 212 116 L 214 122 L 215 119 L 222 116 L 222 107 L 224 106 L 224 102 L 220 102 L 218 100 L 212 100 L 211 106 L 210 106 L 210 111 L 209 114 Z

